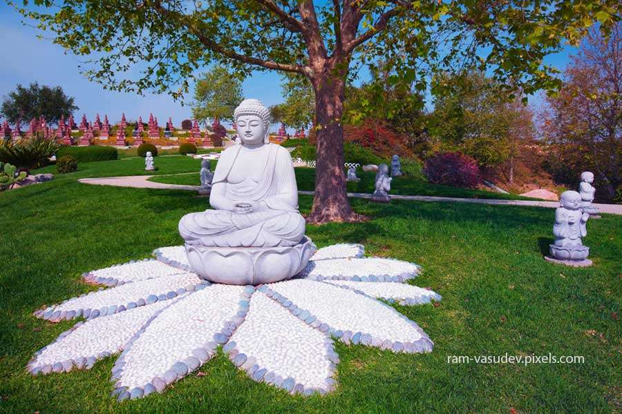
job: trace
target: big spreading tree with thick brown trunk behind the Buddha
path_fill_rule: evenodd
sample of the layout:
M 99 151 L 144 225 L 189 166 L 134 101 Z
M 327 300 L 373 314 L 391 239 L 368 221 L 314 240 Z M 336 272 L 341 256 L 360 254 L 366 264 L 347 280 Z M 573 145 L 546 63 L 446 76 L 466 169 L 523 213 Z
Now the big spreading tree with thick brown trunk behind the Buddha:
M 12 2 L 10 2 L 12 3 Z M 23 0 L 28 4 L 28 1 Z M 106 88 L 183 96 L 197 68 L 216 62 L 240 75 L 292 72 L 314 92 L 315 191 L 308 221 L 355 221 L 343 175 L 348 79 L 381 59 L 391 82 L 462 68 L 490 70 L 525 92 L 556 88 L 546 55 L 587 27 L 619 19 L 619 0 L 180 1 L 52 0 L 20 8 L 53 41 L 95 57 L 89 79 Z M 137 70 L 138 69 L 138 70 Z M 354 70 L 353 70 L 354 69 Z

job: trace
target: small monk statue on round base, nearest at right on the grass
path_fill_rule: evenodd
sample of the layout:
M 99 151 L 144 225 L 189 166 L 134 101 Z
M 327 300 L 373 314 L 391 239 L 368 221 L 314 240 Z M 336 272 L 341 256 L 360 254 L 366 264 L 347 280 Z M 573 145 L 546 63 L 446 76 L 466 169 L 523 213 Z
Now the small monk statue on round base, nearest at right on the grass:
M 570 266 L 589 266 L 592 264 L 587 260 L 590 248 L 583 246 L 581 237 L 587 235 L 585 223 L 590 215 L 581 210 L 581 195 L 572 190 L 564 191 L 559 204 L 553 225 L 555 241 L 549 246 L 551 257 L 546 259 Z

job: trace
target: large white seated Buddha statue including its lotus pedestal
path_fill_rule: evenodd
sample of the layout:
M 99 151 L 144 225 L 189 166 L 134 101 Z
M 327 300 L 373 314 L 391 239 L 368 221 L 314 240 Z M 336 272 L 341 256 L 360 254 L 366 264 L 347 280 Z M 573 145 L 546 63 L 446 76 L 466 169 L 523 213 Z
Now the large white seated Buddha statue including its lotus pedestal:
M 242 101 L 234 111 L 234 119 L 239 140 L 221 152 L 218 159 L 209 195 L 213 210 L 190 213 L 179 221 L 179 233 L 185 240 L 189 262 L 200 276 L 213 282 L 257 284 L 274 282 L 274 277 L 276 280 L 290 278 L 308 261 L 306 257 L 296 262 L 294 256 L 310 257 L 307 253 L 315 248 L 310 239 L 304 237 L 305 219 L 298 211 L 298 190 L 290 153 L 268 140 L 270 110 L 257 99 Z M 292 248 L 296 252 L 292 253 Z M 220 257 L 238 255 L 239 262 L 239 255 L 265 258 L 268 250 L 274 254 L 279 252 L 281 262 L 291 253 L 290 262 L 285 260 L 288 266 L 283 265 L 288 269 L 272 268 L 274 275 L 258 275 L 256 257 L 251 260 L 254 268 L 244 275 L 240 273 L 239 263 L 231 263 L 238 269 L 225 269 L 225 259 L 214 266 L 208 263 L 216 260 L 214 254 Z M 265 268 L 262 272 L 269 270 Z M 266 280 L 264 276 L 271 279 Z

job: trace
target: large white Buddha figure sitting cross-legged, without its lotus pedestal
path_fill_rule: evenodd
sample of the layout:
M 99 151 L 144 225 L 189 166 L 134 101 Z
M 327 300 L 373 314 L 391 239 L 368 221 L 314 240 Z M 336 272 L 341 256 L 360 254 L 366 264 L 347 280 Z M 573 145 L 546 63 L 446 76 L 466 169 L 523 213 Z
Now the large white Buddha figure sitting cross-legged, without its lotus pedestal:
M 209 204 L 179 222 L 186 244 L 217 247 L 281 247 L 299 244 L 305 219 L 290 153 L 270 144 L 270 110 L 245 99 L 234 112 L 238 144 L 220 155 Z

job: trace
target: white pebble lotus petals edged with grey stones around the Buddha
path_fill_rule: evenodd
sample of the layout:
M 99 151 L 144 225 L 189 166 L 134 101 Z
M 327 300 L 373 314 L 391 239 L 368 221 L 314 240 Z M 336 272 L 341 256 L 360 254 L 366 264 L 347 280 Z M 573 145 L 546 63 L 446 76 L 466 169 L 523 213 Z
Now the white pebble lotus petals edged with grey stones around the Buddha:
M 440 295 L 404 282 L 420 267 L 363 257 L 359 244 L 321 248 L 293 279 L 259 286 L 209 284 L 192 273 L 183 246 L 94 270 L 86 282 L 109 286 L 42 308 L 50 322 L 83 318 L 41 348 L 32 375 L 92 368 L 120 354 L 112 397 L 161 393 L 198 370 L 219 346 L 257 382 L 288 393 L 330 393 L 337 386 L 334 341 L 395 353 L 431 352 L 433 342 L 386 302 L 428 304 Z

